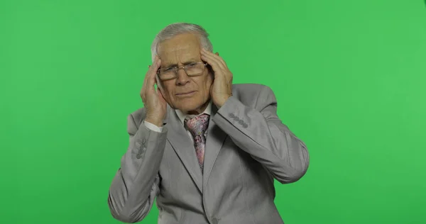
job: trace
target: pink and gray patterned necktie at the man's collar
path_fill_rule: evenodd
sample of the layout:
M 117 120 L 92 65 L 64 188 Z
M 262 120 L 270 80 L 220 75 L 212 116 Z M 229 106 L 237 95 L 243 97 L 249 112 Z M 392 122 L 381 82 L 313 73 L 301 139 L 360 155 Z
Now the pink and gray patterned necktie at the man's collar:
M 187 128 L 190 130 L 190 133 L 194 138 L 195 153 L 197 154 L 201 170 L 203 169 L 204 147 L 206 146 L 206 137 L 204 136 L 204 133 L 209 125 L 209 118 L 210 116 L 205 113 L 200 116 L 196 116 L 195 118 L 185 118 Z

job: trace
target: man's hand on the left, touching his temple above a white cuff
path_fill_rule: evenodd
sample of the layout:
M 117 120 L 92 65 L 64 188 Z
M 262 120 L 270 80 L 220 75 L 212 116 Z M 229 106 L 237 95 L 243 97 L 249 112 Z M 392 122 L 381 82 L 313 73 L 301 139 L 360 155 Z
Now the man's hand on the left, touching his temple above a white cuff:
M 163 119 L 165 118 L 167 109 L 167 103 L 160 89 L 155 90 L 155 75 L 160 65 L 160 58 L 155 56 L 153 65 L 150 66 L 148 72 L 146 72 L 141 89 L 141 99 L 143 106 L 146 108 L 145 121 L 157 125 L 158 127 L 163 126 Z

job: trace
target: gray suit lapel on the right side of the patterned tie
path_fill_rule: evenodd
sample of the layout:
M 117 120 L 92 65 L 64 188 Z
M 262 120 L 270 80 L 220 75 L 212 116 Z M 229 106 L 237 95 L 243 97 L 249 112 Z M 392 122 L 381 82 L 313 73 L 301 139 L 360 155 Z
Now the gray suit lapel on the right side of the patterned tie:
M 226 133 L 219 128 L 218 125 L 212 121 L 214 115 L 217 113 L 217 106 L 212 104 L 212 113 L 210 115 L 209 128 L 207 128 L 207 139 L 206 147 L 204 148 L 204 174 L 202 175 L 203 186 L 207 184 L 210 173 L 216 161 L 217 155 L 222 148 L 224 140 L 226 138 Z

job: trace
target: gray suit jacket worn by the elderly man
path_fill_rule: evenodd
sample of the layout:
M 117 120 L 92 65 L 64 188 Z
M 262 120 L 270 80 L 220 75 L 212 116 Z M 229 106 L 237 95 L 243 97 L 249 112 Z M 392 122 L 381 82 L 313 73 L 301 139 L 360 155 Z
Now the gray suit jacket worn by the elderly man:
M 173 108 L 161 133 L 143 124 L 144 108 L 131 113 L 129 148 L 109 189 L 114 218 L 143 220 L 156 197 L 159 224 L 283 223 L 273 179 L 300 179 L 309 164 L 307 148 L 281 123 L 268 86 L 234 84 L 232 94 L 219 110 L 212 106 L 204 174 Z

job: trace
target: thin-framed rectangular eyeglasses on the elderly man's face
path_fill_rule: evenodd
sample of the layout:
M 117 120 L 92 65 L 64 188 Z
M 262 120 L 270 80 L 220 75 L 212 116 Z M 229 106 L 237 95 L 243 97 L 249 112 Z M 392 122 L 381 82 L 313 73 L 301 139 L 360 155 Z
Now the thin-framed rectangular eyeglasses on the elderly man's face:
M 178 77 L 178 71 L 180 69 L 183 69 L 187 76 L 189 77 L 195 77 L 197 75 L 200 75 L 204 72 L 205 67 L 207 66 L 207 63 L 204 62 L 192 62 L 188 65 L 184 66 L 175 66 L 175 67 L 167 67 L 164 69 L 158 69 L 157 74 L 160 80 L 168 80 L 168 79 L 175 79 Z

